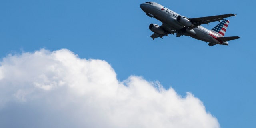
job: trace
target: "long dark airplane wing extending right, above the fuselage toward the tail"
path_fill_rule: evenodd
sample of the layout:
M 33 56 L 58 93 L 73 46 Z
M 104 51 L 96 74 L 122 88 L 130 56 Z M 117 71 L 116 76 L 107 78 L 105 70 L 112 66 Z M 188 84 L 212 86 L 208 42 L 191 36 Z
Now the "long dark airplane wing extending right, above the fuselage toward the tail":
M 210 22 L 220 21 L 224 18 L 230 17 L 230 16 L 236 16 L 236 14 L 224 14 L 224 15 L 218 15 L 218 16 L 207 16 L 207 17 L 198 17 L 198 18 L 189 18 L 190 22 L 195 25 L 201 25 L 201 24 L 208 24 Z

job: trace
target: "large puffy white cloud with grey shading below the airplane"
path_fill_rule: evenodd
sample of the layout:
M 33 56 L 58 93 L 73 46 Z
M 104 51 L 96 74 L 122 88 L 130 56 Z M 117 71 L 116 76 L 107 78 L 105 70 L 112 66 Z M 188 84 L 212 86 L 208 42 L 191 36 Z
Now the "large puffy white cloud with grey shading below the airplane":
M 62 49 L 0 62 L 0 127 L 219 128 L 202 102 Z

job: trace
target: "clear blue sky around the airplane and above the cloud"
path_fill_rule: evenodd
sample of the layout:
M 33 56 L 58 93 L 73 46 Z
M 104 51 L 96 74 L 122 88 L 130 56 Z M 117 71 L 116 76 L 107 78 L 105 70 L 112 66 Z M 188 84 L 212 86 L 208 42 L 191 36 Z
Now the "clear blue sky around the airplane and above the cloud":
M 237 14 L 227 18 L 225 36 L 241 39 L 229 41 L 229 46 L 210 47 L 187 36 L 153 41 L 148 26 L 161 22 L 140 9 L 144 2 L 2 0 L 0 57 L 66 48 L 80 58 L 105 60 L 120 81 L 136 75 L 157 80 L 182 96 L 191 92 L 222 128 L 255 126 L 255 3 L 154 1 L 188 18 Z M 211 29 L 216 24 L 203 26 Z

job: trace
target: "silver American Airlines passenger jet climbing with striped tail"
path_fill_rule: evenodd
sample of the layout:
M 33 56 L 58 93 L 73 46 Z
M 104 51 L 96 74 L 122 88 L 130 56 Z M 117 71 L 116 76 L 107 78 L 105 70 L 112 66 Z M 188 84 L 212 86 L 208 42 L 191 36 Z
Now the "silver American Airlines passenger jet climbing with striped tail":
M 192 38 L 209 42 L 209 46 L 214 46 L 216 44 L 228 45 L 227 41 L 240 38 L 238 36 L 224 37 L 230 22 L 224 18 L 236 16 L 236 14 L 187 18 L 155 2 L 140 4 L 140 8 L 146 12 L 147 16 L 156 18 L 162 22 L 161 26 L 157 24 L 149 25 L 149 29 L 154 32 L 154 34 L 150 36 L 153 40 L 158 37 L 162 38 L 163 36 L 168 36 L 168 34 L 174 35 L 176 33 L 176 37 L 183 35 L 191 36 Z M 222 21 L 220 22 L 220 20 Z M 212 30 L 201 26 L 201 24 L 208 24 L 215 21 L 219 21 L 220 23 L 212 28 Z

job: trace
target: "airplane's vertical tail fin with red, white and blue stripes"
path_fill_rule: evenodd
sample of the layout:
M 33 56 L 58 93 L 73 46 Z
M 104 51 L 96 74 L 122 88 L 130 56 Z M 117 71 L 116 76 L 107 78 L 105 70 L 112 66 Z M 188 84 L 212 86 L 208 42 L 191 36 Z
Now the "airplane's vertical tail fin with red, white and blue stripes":
M 224 37 L 226 30 L 228 28 L 229 21 L 224 19 L 220 24 L 212 28 L 212 31 L 220 35 L 220 37 Z

